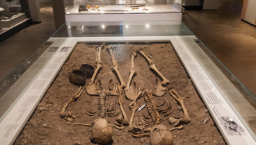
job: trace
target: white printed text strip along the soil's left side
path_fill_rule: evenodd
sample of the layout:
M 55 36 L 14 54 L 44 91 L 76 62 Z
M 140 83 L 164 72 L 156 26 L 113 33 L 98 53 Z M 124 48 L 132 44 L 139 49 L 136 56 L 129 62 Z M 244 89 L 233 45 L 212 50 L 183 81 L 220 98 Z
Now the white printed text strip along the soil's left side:
M 53 47 L 49 49 L 53 49 Z M 35 79 L 32 80 L 33 82 L 30 83 L 24 94 L 21 94 L 22 96 L 17 103 L 1 121 L 1 144 L 13 144 L 56 74 L 58 74 L 65 60 L 72 52 L 71 46 L 62 46 L 61 48 L 54 47 L 54 49 L 57 49 L 54 57 L 49 60 L 38 76 L 35 76 Z

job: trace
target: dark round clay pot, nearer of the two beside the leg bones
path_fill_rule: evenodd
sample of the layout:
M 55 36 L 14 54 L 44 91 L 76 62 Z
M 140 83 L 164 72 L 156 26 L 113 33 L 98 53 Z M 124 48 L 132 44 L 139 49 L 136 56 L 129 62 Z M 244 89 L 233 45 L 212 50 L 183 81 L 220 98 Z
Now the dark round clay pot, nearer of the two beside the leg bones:
M 70 82 L 74 85 L 85 85 L 86 84 L 86 74 L 79 70 L 75 69 L 70 73 Z

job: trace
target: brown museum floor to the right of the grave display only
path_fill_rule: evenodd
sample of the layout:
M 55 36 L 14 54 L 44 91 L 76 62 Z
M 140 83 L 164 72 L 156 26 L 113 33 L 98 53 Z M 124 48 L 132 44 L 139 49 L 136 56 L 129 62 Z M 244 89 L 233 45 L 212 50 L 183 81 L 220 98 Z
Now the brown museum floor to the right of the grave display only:
M 242 6 L 221 0 L 218 10 L 186 10 L 182 21 L 256 94 L 256 28 L 241 21 Z

